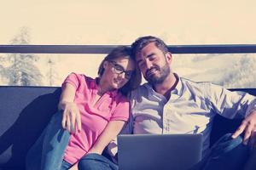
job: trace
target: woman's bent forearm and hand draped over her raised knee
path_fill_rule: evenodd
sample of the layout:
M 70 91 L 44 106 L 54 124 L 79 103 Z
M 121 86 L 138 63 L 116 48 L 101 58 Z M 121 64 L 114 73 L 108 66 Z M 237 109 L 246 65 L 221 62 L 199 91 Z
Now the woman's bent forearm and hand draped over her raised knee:
M 62 127 L 69 133 L 77 133 L 81 130 L 81 117 L 78 106 L 73 102 L 76 89 L 66 82 L 62 87 L 61 99 L 58 109 L 63 111 Z

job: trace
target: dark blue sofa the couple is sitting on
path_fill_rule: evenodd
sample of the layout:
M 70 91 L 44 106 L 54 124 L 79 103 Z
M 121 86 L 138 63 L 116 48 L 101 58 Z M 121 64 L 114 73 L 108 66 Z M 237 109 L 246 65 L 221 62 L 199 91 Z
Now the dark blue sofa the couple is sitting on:
M 256 95 L 256 88 L 233 89 Z M 26 152 L 57 111 L 60 87 L 0 86 L 0 170 L 24 170 Z M 241 120 L 216 116 L 211 144 L 234 132 Z M 256 150 L 245 169 L 256 169 Z

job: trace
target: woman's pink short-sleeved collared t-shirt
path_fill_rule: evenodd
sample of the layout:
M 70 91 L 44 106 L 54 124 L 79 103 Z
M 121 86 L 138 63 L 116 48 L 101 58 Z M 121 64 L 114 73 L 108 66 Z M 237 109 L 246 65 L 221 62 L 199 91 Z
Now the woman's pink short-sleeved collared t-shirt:
M 81 132 L 77 135 L 71 134 L 64 154 L 64 160 L 73 164 L 90 150 L 108 122 L 128 120 L 129 102 L 125 96 L 114 90 L 103 94 L 93 106 L 92 102 L 98 91 L 96 79 L 71 73 L 62 83 L 62 87 L 67 82 L 76 89 L 74 102 L 79 107 L 82 122 Z

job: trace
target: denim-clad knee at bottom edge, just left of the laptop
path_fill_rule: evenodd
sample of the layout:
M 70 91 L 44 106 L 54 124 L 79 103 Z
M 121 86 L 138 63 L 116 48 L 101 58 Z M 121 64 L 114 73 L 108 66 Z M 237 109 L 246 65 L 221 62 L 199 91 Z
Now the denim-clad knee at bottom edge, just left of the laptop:
M 118 170 L 118 166 L 105 156 L 88 154 L 80 159 L 79 170 Z

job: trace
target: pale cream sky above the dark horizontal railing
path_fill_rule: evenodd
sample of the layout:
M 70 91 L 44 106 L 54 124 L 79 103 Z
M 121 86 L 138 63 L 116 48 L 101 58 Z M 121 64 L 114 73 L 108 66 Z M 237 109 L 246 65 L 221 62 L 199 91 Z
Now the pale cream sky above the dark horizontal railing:
M 154 35 L 169 44 L 256 42 L 255 0 L 0 0 L 0 44 L 20 27 L 32 44 L 130 44 Z

